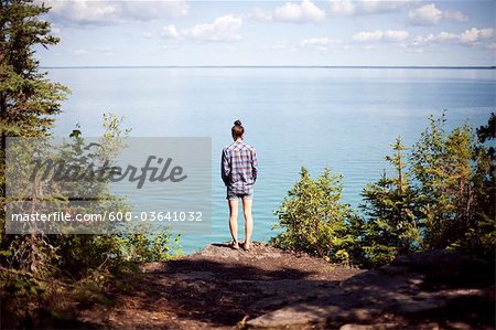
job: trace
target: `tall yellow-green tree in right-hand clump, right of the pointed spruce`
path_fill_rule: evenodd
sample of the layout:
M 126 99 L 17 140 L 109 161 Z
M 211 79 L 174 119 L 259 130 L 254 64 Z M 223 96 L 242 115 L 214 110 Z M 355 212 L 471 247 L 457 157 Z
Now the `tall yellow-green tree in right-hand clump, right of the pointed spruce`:
M 477 182 L 487 173 L 476 167 L 486 160 L 477 151 L 482 146 L 471 126 L 446 134 L 444 123 L 444 115 L 431 117 L 411 155 L 411 171 L 421 193 L 425 247 L 471 249 L 477 236 Z

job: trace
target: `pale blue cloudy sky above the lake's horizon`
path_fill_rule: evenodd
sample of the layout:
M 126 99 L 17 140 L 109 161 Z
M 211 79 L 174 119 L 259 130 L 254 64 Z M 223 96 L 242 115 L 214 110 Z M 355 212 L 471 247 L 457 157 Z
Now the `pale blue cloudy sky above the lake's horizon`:
M 496 65 L 496 1 L 47 0 L 43 66 Z

